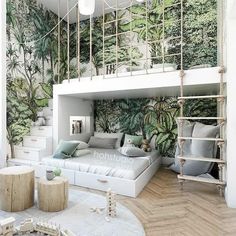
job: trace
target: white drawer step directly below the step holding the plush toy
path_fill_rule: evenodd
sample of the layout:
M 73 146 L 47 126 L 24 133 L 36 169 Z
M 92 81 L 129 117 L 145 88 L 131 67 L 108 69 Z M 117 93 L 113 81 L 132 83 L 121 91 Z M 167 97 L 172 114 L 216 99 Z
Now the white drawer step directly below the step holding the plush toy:
M 52 152 L 52 137 L 25 136 L 23 138 L 24 147 L 43 148 Z

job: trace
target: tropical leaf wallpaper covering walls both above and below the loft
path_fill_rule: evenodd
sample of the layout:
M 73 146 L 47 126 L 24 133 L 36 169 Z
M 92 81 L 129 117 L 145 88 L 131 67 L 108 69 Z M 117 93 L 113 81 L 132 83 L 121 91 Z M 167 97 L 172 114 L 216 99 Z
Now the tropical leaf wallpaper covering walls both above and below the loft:
M 162 4 L 165 10 L 165 27 Z M 176 3 L 176 4 L 175 4 Z M 152 68 L 162 63 L 180 64 L 180 7 L 179 0 L 152 0 L 148 6 L 147 20 L 144 4 L 126 10 L 111 12 L 105 16 L 106 40 L 103 67 L 103 19 L 93 18 L 93 75 L 111 74 L 129 66 Z M 172 7 L 168 7 L 175 4 Z M 117 15 L 118 14 L 118 15 Z M 132 15 L 130 20 L 127 16 Z M 114 19 L 117 22 L 118 42 Z M 126 18 L 125 20 L 122 20 Z M 184 1 L 184 68 L 199 64 L 217 65 L 217 0 Z M 110 22 L 110 23 L 109 23 Z M 58 68 L 58 32 L 49 32 L 57 24 L 57 15 L 37 4 L 36 0 L 7 0 L 7 138 L 13 154 L 13 146 L 22 141 L 29 132 L 37 112 L 47 106 L 52 97 L 52 85 L 67 78 L 67 28 L 61 23 L 61 61 Z M 146 30 L 148 29 L 147 35 Z M 70 25 L 70 77 L 76 78 L 76 24 Z M 90 73 L 89 21 L 80 24 L 81 75 Z M 132 31 L 132 34 L 129 33 Z M 43 37 L 44 36 L 44 37 Z M 143 43 L 146 42 L 147 48 Z M 42 38 L 43 37 L 43 38 Z M 174 37 L 174 39 L 172 38 Z M 41 39 L 41 40 L 39 40 Z M 164 40 L 164 44 L 161 43 Z M 133 41 L 134 45 L 127 48 Z M 117 45 L 116 45 L 117 44 Z M 164 45 L 164 46 L 163 46 Z M 115 49 L 118 48 L 118 68 Z M 148 53 L 148 60 L 143 60 Z M 168 56 L 172 55 L 173 56 Z M 58 77 L 60 74 L 60 80 Z M 216 106 L 197 104 L 194 112 L 212 112 Z M 178 114 L 176 98 L 134 99 L 96 102 L 96 128 L 107 132 L 122 130 L 144 136 L 158 134 L 157 143 L 163 154 L 173 154 L 176 139 L 174 117 Z M 109 109 L 110 107 L 110 109 Z M 116 109 L 113 109 L 113 108 Z M 190 108 L 191 110 L 191 108 Z M 102 112 L 103 111 L 103 112 Z M 110 112 L 112 111 L 112 113 Z M 192 112 L 192 111 L 189 111 Z M 107 114 L 109 113 L 109 114 Z M 106 115 L 107 114 L 107 115 Z

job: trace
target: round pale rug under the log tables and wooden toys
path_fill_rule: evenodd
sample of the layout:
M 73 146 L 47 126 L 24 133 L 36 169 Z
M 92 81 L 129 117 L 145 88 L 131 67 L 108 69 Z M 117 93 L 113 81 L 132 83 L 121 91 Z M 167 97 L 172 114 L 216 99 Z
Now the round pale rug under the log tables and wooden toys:
M 37 196 L 37 195 L 36 195 Z M 35 221 L 42 220 L 70 229 L 78 236 L 145 236 L 140 221 L 134 214 L 121 204 L 117 204 L 117 216 L 108 222 L 106 212 L 91 212 L 91 208 L 103 208 L 106 198 L 97 194 L 70 190 L 68 208 L 60 212 L 43 212 L 37 206 L 23 212 L 9 213 L 0 211 L 0 220 L 14 217 L 16 225 L 24 219 L 32 217 Z

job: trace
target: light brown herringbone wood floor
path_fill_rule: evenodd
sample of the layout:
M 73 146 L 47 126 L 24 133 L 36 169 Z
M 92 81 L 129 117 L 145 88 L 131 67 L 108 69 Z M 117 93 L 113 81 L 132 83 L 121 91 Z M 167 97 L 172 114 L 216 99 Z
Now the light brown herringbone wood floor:
M 236 209 L 227 208 L 214 185 L 185 182 L 180 190 L 176 174 L 164 168 L 138 198 L 117 198 L 143 223 L 147 236 L 236 236 Z

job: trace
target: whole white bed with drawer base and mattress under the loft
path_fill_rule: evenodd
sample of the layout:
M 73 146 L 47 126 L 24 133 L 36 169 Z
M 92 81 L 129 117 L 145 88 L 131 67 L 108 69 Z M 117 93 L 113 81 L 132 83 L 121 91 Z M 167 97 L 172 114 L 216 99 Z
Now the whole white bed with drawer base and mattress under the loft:
M 36 168 L 36 176 L 46 169 L 60 168 L 70 184 L 137 197 L 161 164 L 158 151 L 130 158 L 116 149 L 89 148 L 90 154 L 70 159 L 46 157 Z

